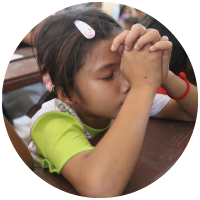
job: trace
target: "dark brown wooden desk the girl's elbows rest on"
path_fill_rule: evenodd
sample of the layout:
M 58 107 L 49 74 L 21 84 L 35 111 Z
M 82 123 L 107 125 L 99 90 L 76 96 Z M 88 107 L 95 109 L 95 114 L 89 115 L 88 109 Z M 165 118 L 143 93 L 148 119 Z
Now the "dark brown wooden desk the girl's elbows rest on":
M 184 153 L 194 127 L 195 123 L 150 118 L 140 156 L 122 196 L 142 190 L 164 176 Z M 51 174 L 48 169 L 35 174 L 58 190 L 80 196 L 62 175 Z

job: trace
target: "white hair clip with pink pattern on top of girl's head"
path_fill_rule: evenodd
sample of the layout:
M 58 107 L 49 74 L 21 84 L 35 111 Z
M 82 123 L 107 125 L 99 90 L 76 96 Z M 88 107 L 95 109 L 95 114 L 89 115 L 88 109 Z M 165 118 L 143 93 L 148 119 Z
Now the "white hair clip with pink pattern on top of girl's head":
M 78 30 L 87 38 L 87 39 L 92 39 L 95 36 L 95 31 L 92 27 L 90 27 L 88 24 L 85 22 L 76 20 L 74 22 Z

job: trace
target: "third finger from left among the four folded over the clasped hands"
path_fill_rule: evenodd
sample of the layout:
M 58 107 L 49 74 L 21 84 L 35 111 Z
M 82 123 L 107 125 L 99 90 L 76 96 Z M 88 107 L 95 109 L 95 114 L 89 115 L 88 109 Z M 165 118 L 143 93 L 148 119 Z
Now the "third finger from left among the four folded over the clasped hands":
M 153 29 L 148 31 L 144 36 L 138 39 L 135 49 L 140 50 L 142 49 L 146 44 L 152 43 L 155 44 L 158 41 L 160 41 L 161 37 L 157 30 Z

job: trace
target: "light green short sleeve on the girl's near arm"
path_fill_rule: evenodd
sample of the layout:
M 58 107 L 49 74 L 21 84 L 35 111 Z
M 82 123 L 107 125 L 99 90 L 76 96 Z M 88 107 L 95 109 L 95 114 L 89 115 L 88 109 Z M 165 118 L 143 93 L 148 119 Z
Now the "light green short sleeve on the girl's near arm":
M 40 155 L 36 161 L 58 174 L 71 157 L 94 149 L 84 135 L 81 123 L 60 111 L 42 115 L 34 124 L 31 137 Z

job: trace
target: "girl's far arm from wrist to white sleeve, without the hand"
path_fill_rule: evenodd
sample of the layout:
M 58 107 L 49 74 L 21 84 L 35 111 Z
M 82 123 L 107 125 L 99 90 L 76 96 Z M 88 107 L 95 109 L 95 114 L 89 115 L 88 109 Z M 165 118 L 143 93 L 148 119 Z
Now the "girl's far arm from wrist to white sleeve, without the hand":
M 162 87 L 170 96 L 178 98 L 185 94 L 187 83 L 170 71 Z M 197 120 L 197 114 L 198 87 L 190 83 L 190 91 L 187 96 L 177 101 L 170 100 L 165 108 L 154 117 L 195 122 Z

